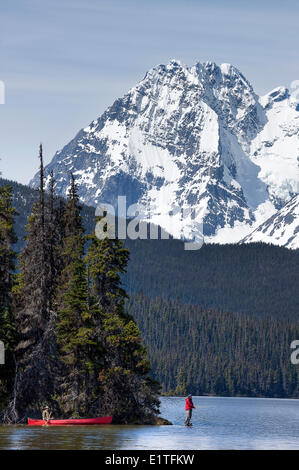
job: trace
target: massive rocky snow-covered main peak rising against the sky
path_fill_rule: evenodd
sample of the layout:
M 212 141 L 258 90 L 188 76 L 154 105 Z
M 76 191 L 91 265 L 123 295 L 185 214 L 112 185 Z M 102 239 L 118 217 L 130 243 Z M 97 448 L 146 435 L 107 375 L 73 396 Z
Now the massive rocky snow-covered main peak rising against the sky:
M 73 172 L 86 204 L 116 205 L 126 195 L 174 236 L 192 238 L 203 222 L 208 241 L 233 242 L 298 193 L 298 119 L 284 88 L 259 99 L 232 65 L 171 61 L 150 70 L 46 169 L 59 195 Z

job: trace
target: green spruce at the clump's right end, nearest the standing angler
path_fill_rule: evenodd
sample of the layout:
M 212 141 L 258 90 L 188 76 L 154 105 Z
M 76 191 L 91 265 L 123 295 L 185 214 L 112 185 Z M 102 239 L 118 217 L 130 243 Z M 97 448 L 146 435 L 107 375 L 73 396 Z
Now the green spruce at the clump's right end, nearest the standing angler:
M 101 409 L 119 422 L 153 422 L 158 413 L 159 384 L 150 366 L 139 329 L 125 311 L 121 275 L 129 252 L 120 240 L 89 237 L 86 262 L 90 274 L 90 310 L 105 347 L 98 376 Z

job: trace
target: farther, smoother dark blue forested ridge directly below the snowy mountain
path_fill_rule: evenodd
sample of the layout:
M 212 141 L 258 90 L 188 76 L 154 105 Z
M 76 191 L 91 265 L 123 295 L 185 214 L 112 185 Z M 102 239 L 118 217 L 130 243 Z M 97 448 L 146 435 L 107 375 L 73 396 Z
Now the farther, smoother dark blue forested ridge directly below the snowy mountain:
M 0 179 L 0 185 L 7 180 Z M 13 187 L 17 249 L 24 246 L 25 221 L 38 192 L 19 183 Z M 83 206 L 83 225 L 91 233 L 94 208 Z M 231 310 L 277 319 L 299 319 L 299 252 L 253 243 L 204 245 L 185 251 L 179 240 L 125 241 L 130 250 L 127 274 L 129 293 L 142 291 L 149 297 L 180 299 L 183 303 Z

